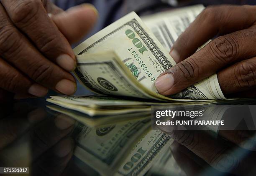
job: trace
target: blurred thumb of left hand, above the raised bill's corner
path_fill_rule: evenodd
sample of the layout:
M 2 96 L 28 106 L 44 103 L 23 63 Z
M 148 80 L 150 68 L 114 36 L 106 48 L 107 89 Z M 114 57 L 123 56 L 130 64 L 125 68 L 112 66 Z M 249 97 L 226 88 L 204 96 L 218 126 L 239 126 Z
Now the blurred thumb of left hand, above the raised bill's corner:
M 89 32 L 98 17 L 97 10 L 90 4 L 70 8 L 67 12 L 52 15 L 51 19 L 69 43 L 77 42 Z

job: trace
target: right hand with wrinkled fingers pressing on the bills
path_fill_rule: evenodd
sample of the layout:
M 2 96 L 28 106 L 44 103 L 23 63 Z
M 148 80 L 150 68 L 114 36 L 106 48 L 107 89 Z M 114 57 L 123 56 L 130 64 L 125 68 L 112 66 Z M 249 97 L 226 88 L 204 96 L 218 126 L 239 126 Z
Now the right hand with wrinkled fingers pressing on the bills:
M 224 95 L 256 97 L 255 43 L 256 6 L 206 8 L 174 43 L 177 65 L 157 78 L 156 88 L 172 95 L 217 72 Z

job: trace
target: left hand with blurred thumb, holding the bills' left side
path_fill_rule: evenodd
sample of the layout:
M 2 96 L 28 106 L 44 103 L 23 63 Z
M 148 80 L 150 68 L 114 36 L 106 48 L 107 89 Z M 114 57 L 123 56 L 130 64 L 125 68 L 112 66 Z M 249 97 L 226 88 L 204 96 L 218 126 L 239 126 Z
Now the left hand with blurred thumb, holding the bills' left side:
M 97 19 L 92 5 L 67 12 L 49 0 L 0 0 L 0 100 L 43 97 L 48 89 L 71 95 L 76 67 L 70 43 L 87 33 Z

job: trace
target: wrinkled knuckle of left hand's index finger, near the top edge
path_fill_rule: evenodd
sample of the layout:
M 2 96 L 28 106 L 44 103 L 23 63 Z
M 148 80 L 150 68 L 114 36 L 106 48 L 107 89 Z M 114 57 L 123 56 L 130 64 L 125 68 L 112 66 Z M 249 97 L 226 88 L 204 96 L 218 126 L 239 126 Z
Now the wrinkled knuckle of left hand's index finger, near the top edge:
M 16 5 L 10 8 L 10 18 L 15 24 L 27 24 L 31 19 L 38 17 L 38 9 L 41 1 L 22 0 L 17 1 Z

